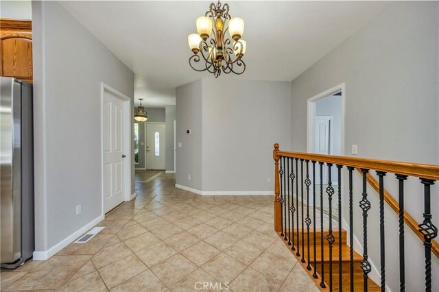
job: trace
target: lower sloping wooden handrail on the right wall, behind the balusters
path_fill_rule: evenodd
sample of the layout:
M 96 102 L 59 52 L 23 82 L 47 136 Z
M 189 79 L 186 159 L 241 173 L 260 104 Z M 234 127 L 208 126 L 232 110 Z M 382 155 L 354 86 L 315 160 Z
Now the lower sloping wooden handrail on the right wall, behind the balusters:
M 356 169 L 359 173 L 361 173 L 361 169 L 359 169 L 358 167 Z M 363 173 L 361 173 L 361 175 L 362 174 Z M 375 191 L 379 193 L 379 183 L 377 182 L 377 180 L 375 180 L 375 178 L 370 173 L 366 175 L 366 179 L 368 183 L 372 186 L 372 188 L 374 188 Z M 384 190 L 384 201 L 387 204 L 389 204 L 390 208 L 392 208 L 396 212 L 396 214 L 399 214 L 398 202 L 396 202 L 396 200 L 392 197 L 392 195 L 390 195 L 390 193 L 388 193 L 388 191 L 385 190 Z M 419 231 L 418 223 L 416 223 L 415 219 L 406 211 L 404 212 L 404 222 L 405 224 L 407 224 L 407 226 L 410 227 L 410 229 L 414 232 L 414 234 L 416 234 L 416 236 L 419 237 L 421 241 L 424 241 L 424 236 Z M 431 241 L 431 252 L 433 252 L 434 255 L 439 258 L 439 244 L 434 240 Z

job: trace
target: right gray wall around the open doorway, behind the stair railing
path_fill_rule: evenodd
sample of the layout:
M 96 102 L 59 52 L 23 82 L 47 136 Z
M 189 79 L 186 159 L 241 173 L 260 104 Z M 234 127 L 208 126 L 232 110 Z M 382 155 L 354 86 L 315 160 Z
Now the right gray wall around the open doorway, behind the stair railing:
M 292 82 L 292 150 L 306 151 L 307 99 L 346 84 L 345 149 L 358 145 L 358 156 L 424 162 L 439 162 L 438 114 L 438 2 L 396 2 L 346 39 L 327 56 L 313 64 Z M 361 182 L 355 175 L 355 202 L 359 202 Z M 396 196 L 394 175 L 385 178 L 385 187 Z M 346 185 L 346 184 L 344 184 Z M 346 192 L 345 192 L 346 193 Z M 378 199 L 371 192 L 369 230 L 379 226 Z M 407 183 L 406 210 L 422 221 L 422 187 L 418 180 Z M 433 188 L 432 208 L 438 226 L 438 186 Z M 348 212 L 346 197 L 343 213 Z M 397 218 L 389 208 L 386 214 L 386 266 L 398 267 Z M 355 236 L 362 242 L 361 210 L 355 207 Z M 408 229 L 408 228 L 407 228 Z M 369 252 L 379 269 L 379 239 Z M 406 231 L 407 291 L 423 287 L 423 245 Z M 371 240 L 370 240 L 371 241 Z M 361 248 L 361 244 L 357 247 Z M 408 252 L 410 251 L 410 252 Z M 433 274 L 438 275 L 434 258 Z M 398 290 L 398 269 L 386 269 L 387 283 Z M 376 276 L 376 275 L 375 275 Z M 434 291 L 439 284 L 434 283 Z

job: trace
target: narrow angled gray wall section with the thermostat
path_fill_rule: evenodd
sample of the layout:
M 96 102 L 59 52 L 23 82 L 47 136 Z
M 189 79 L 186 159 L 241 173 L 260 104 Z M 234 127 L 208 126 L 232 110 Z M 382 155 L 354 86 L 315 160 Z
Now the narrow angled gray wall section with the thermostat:
M 201 190 L 202 186 L 202 80 L 176 88 L 176 184 Z M 186 130 L 191 129 L 192 134 Z M 187 175 L 191 175 L 188 180 Z

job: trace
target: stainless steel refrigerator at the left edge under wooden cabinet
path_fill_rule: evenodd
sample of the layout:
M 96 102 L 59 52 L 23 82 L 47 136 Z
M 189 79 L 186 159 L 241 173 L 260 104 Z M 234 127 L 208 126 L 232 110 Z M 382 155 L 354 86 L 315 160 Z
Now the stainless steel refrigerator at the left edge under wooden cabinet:
M 14 269 L 34 252 L 32 84 L 0 77 L 0 260 Z

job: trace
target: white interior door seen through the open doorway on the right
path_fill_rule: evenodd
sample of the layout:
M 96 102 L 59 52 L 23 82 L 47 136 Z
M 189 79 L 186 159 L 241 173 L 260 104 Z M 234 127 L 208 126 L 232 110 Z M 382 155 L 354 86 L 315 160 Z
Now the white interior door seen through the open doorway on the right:
M 316 116 L 314 125 L 314 153 L 331 154 L 331 117 Z M 316 172 L 316 182 L 320 182 L 320 169 Z M 326 165 L 323 167 L 323 182 L 328 182 Z

